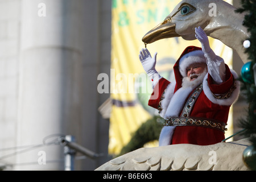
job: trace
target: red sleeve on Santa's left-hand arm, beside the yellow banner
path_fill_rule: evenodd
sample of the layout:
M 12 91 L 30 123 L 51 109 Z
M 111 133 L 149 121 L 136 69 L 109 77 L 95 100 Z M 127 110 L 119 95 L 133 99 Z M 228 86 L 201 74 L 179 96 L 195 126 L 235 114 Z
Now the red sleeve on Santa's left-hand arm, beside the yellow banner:
M 161 78 L 158 83 L 155 85 L 153 93 L 151 94 L 150 100 L 148 101 L 148 105 L 158 109 L 158 105 L 161 99 L 161 96 L 164 90 L 171 82 L 166 80 L 166 78 Z

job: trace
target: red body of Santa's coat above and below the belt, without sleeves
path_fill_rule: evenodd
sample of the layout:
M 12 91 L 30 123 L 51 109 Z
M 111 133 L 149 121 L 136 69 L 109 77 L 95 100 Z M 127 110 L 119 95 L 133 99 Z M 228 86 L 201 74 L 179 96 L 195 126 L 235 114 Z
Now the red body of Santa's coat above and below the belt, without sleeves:
M 212 118 L 226 123 L 229 107 L 213 104 L 202 91 L 191 110 L 191 117 Z M 198 126 L 176 126 L 171 143 L 208 145 L 221 142 L 224 138 L 222 131 Z

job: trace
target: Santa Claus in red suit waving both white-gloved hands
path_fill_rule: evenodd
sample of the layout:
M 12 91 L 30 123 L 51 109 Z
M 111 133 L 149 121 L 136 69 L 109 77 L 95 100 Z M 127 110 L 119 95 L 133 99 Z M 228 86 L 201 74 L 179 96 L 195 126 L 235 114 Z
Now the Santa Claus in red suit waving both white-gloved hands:
M 225 139 L 229 109 L 238 98 L 240 82 L 236 72 L 212 51 L 201 27 L 195 28 L 195 36 L 202 48 L 185 48 L 174 65 L 174 82 L 155 70 L 157 53 L 151 57 L 143 48 L 139 54 L 154 89 L 148 105 L 166 120 L 159 146 L 209 145 Z

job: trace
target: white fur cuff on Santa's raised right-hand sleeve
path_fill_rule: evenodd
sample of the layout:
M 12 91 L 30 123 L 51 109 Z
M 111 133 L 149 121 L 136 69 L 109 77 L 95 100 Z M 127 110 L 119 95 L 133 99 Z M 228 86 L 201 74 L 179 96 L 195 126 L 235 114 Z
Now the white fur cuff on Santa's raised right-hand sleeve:
M 238 75 L 235 71 L 230 69 L 230 72 L 232 73 L 232 75 L 234 76 L 235 79 L 238 78 Z M 233 91 L 232 95 L 229 98 L 217 99 L 212 95 L 212 91 L 209 88 L 208 81 L 207 81 L 208 74 L 205 75 L 205 77 L 204 77 L 203 90 L 204 90 L 205 96 L 207 96 L 207 98 L 209 98 L 209 100 L 211 102 L 213 102 L 214 104 L 222 105 L 222 106 L 230 106 L 234 102 L 237 101 L 237 98 L 238 98 L 239 93 L 240 93 L 240 81 L 236 81 L 236 87 L 237 88 Z

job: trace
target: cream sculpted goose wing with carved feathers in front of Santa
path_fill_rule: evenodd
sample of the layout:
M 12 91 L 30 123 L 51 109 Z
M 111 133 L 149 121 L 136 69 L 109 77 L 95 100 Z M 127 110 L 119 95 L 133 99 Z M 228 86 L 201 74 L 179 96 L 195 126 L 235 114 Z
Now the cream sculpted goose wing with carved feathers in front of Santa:
M 209 146 L 174 144 L 139 148 L 98 167 L 96 171 L 177 171 L 177 170 L 249 170 L 242 153 L 250 145 L 248 139 Z

